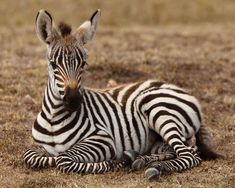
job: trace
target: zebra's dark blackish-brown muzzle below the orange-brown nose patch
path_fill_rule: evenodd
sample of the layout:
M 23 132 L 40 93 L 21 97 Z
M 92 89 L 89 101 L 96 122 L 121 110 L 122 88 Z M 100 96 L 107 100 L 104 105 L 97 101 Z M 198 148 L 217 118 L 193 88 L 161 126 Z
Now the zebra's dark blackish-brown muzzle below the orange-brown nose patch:
M 76 111 L 79 109 L 82 102 L 82 96 L 78 89 L 67 87 L 65 89 L 64 104 L 69 111 Z

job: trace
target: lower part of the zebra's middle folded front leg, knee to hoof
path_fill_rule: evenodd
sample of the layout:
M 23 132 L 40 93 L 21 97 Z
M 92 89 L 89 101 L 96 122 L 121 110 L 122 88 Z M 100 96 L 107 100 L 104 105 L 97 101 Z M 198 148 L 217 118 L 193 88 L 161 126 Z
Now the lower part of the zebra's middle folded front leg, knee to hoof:
M 109 171 L 117 171 L 131 165 L 135 160 L 137 152 L 124 151 L 123 156 L 118 160 L 107 160 L 101 162 L 79 162 L 76 157 L 63 153 L 56 158 L 56 167 L 64 173 L 79 174 L 101 174 Z

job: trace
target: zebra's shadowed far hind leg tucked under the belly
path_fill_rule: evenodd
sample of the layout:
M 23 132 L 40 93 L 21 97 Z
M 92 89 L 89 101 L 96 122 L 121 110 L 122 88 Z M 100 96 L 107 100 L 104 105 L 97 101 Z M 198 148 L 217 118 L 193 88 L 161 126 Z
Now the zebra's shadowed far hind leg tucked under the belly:
M 132 169 L 140 170 L 148 164 L 156 161 L 164 161 L 173 159 L 176 157 L 176 153 L 173 149 L 164 142 L 157 142 L 151 149 L 150 155 L 139 155 L 132 163 Z

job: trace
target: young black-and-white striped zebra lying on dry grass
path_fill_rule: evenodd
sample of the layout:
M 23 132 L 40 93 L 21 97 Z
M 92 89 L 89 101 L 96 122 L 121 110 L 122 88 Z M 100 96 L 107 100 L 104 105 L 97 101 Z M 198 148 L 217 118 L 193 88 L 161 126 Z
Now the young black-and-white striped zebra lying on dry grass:
M 100 16 L 98 9 L 72 33 L 71 26 L 56 27 L 52 16 L 39 10 L 36 34 L 47 46 L 48 83 L 32 127 L 37 147 L 24 153 L 25 164 L 65 173 L 146 168 L 151 180 L 218 158 L 199 102 L 184 89 L 157 80 L 103 90 L 82 86 L 85 45 Z M 194 136 L 196 146 L 190 144 Z

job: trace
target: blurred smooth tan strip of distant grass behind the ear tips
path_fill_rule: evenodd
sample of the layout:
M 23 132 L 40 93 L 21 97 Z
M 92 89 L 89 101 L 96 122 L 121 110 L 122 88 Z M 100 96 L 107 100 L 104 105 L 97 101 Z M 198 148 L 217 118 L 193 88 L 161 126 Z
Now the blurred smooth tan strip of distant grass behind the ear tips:
M 102 9 L 102 25 L 112 26 L 235 21 L 234 0 L 1 0 L 0 26 L 31 25 L 41 8 L 71 24 L 87 19 L 97 8 Z

